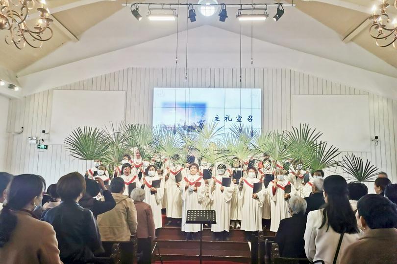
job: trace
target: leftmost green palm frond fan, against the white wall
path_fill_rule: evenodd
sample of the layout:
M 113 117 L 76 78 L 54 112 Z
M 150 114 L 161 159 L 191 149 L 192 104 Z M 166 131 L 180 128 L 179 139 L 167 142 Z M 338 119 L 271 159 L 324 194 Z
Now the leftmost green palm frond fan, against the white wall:
M 103 154 L 102 138 L 104 133 L 98 128 L 76 128 L 66 137 L 66 148 L 74 158 L 81 160 L 101 159 Z

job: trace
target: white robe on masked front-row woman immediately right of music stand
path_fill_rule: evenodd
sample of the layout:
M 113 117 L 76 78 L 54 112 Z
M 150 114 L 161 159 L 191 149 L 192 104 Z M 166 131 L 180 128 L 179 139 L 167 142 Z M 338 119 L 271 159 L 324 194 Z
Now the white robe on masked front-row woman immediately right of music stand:
M 231 198 L 234 193 L 233 181 L 230 183 L 230 187 L 223 186 L 223 192 L 221 191 L 222 178 L 224 175 L 216 176 L 216 185 L 213 187 L 213 182 L 211 181 L 209 187 L 209 197 L 212 201 L 211 210 L 215 210 L 216 224 L 211 225 L 212 232 L 229 232 L 230 225 L 230 204 Z

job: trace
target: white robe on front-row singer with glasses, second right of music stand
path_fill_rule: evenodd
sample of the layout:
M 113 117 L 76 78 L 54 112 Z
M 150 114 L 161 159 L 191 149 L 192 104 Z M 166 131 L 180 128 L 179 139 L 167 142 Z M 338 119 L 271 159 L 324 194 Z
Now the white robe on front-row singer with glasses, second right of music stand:
M 259 182 L 257 178 L 245 178 L 242 188 L 239 186 L 239 198 L 242 201 L 241 230 L 259 231 L 262 230 L 262 206 L 264 203 L 265 188 L 257 193 L 258 198 L 252 198 L 253 184 Z M 236 184 L 238 186 L 238 184 Z

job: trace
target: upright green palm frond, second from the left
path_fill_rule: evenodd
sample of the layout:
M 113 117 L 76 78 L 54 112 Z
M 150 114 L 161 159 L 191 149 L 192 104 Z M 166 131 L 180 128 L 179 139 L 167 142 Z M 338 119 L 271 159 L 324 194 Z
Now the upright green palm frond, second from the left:
M 122 161 L 124 154 L 128 153 L 123 128 L 124 123 L 116 126 L 110 123 L 110 126 L 105 126 L 100 143 L 103 146 L 101 160 L 104 164 L 117 165 Z

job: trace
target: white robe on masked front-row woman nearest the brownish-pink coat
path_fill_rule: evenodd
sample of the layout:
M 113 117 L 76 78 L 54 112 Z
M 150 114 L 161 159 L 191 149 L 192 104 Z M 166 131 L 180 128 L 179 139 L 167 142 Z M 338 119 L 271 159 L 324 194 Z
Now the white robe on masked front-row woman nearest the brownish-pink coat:
M 145 181 L 145 202 L 151 206 L 151 210 L 153 212 L 153 220 L 155 228 L 163 227 L 163 222 L 161 220 L 161 209 L 162 209 L 162 200 L 164 196 L 164 182 L 160 182 L 160 188 L 156 189 L 154 194 L 151 194 L 150 187 L 153 180 L 158 180 L 160 177 L 157 173 L 153 176 L 145 176 L 143 181 Z

